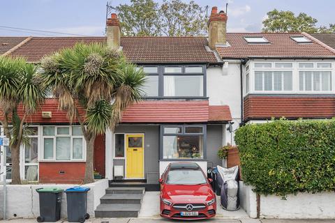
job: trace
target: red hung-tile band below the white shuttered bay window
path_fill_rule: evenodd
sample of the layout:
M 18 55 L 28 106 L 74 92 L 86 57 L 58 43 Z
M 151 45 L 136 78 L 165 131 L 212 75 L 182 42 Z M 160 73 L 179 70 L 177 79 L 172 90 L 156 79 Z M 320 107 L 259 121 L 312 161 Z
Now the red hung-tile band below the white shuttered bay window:
M 332 118 L 335 96 L 248 95 L 244 98 L 244 119 Z

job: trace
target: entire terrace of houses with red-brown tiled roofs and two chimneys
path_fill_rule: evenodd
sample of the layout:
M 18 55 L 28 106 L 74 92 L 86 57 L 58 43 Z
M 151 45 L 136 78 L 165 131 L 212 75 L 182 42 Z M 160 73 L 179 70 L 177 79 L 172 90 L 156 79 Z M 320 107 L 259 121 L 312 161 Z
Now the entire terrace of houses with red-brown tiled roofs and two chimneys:
M 107 43 L 147 73 L 144 100 L 119 126 L 97 137 L 94 167 L 106 178 L 157 184 L 174 161 L 202 169 L 221 164 L 217 150 L 234 144 L 232 125 L 335 116 L 335 52 L 306 33 L 227 33 L 228 16 L 214 7 L 209 37 L 122 37 L 117 15 L 103 37 L 0 37 L 0 54 L 39 63 L 75 43 Z M 85 143 L 80 128 L 47 99 L 29 118 L 31 146 L 22 146 L 22 178 L 80 183 Z M 1 128 L 1 134 L 3 129 Z M 3 167 L 1 156 L 1 169 Z M 10 151 L 8 151 L 10 178 Z

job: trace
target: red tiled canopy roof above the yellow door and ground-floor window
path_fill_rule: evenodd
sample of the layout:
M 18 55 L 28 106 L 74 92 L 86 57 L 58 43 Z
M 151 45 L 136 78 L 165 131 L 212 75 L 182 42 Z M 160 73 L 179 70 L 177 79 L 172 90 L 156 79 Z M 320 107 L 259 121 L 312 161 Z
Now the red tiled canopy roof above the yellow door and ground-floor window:
M 156 100 L 142 101 L 129 107 L 126 112 L 124 112 L 121 122 L 201 123 L 230 120 L 231 117 L 228 106 L 211 107 L 208 105 L 208 101 Z

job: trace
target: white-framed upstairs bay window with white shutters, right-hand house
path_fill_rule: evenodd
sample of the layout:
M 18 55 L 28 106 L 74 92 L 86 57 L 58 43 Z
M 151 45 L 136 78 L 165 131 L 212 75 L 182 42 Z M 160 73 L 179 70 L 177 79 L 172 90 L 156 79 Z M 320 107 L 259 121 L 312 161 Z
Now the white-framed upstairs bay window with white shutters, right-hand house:
M 333 90 L 331 61 L 251 61 L 245 93 L 327 93 Z M 250 83 L 250 85 L 248 84 Z

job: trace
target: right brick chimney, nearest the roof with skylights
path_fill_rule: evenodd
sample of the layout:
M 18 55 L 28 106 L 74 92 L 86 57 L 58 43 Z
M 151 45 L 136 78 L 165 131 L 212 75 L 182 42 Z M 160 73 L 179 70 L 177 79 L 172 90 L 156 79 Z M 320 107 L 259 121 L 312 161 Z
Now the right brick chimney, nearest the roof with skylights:
M 218 8 L 211 8 L 211 16 L 208 21 L 209 47 L 215 49 L 215 45 L 225 45 L 227 42 L 227 20 L 224 11 L 218 13 Z

